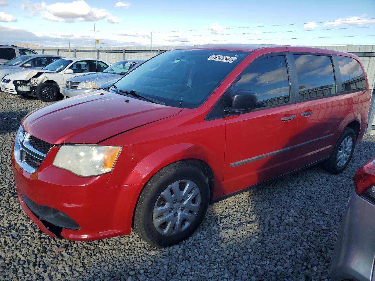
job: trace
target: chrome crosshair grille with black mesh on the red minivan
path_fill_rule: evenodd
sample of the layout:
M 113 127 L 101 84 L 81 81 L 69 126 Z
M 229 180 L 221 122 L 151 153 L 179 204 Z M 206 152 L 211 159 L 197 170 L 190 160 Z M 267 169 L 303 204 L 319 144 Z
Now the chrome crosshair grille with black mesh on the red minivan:
M 22 169 L 33 173 L 43 163 L 51 147 L 52 144 L 31 136 L 20 126 L 14 143 L 14 157 Z

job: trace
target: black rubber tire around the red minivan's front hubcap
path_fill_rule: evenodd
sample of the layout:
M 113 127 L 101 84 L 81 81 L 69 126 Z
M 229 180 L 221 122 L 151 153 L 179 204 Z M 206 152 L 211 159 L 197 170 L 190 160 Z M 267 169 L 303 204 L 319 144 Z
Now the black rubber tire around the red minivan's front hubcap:
M 192 223 L 182 232 L 166 236 L 159 233 L 153 223 L 153 210 L 160 194 L 172 183 L 187 179 L 193 181 L 201 194 L 201 204 Z M 154 247 L 168 247 L 192 235 L 201 224 L 208 208 L 210 188 L 207 178 L 197 167 L 183 161 L 169 164 L 157 172 L 146 184 L 134 212 L 134 231 Z M 174 211 L 173 211 L 174 212 Z

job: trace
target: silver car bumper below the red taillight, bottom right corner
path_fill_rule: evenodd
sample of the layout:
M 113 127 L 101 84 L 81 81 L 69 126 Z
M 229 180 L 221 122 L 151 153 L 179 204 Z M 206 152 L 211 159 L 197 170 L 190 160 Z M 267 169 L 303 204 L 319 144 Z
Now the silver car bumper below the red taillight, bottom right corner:
M 371 281 L 375 256 L 375 205 L 353 193 L 332 258 L 334 281 Z

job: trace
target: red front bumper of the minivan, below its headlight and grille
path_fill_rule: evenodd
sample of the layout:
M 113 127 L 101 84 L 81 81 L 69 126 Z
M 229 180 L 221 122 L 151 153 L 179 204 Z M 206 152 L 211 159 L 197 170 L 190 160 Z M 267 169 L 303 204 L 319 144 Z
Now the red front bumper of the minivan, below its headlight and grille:
M 52 163 L 57 150 L 58 147 L 52 147 L 39 169 L 28 173 L 15 161 L 12 149 L 18 199 L 28 217 L 44 233 L 69 240 L 86 241 L 129 234 L 133 210 L 143 184 L 108 187 L 111 173 L 87 178 L 76 176 L 48 164 Z M 51 224 L 50 217 L 43 218 L 32 212 L 23 194 L 39 206 L 66 214 L 80 228 L 74 230 L 56 227 Z

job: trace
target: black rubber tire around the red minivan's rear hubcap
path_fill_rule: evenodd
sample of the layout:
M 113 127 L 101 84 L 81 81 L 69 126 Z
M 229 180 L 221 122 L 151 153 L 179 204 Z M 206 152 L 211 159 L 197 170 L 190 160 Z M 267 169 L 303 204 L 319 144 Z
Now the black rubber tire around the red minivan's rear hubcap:
M 338 155 L 341 143 L 347 137 L 350 137 L 352 139 L 353 147 L 351 149 L 351 153 L 349 155 L 349 158 L 348 158 L 347 162 L 344 164 L 344 166 L 339 167 L 338 164 L 337 164 L 337 161 L 336 161 L 337 155 Z M 326 171 L 328 171 L 330 173 L 333 173 L 335 175 L 338 174 L 338 173 L 341 173 L 343 170 L 345 170 L 345 168 L 348 166 L 348 164 L 349 164 L 349 162 L 350 162 L 350 160 L 353 156 L 354 148 L 356 147 L 356 139 L 357 139 L 356 133 L 354 132 L 354 130 L 349 128 L 349 127 L 346 127 L 344 129 L 344 131 L 341 133 L 341 136 L 338 139 L 338 141 L 335 145 L 335 148 L 333 148 L 333 152 L 331 154 L 331 157 L 328 160 L 326 160 L 322 163 L 323 169 L 325 169 Z

